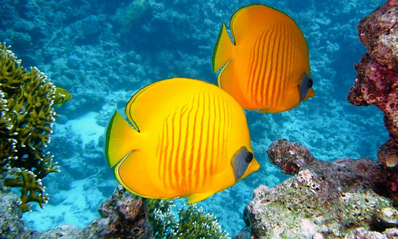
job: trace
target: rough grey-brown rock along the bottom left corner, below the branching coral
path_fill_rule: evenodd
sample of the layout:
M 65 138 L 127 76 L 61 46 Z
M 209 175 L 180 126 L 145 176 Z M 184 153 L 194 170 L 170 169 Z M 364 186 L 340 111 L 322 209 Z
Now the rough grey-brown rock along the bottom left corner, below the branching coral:
M 20 220 L 19 204 L 20 199 L 15 194 L 0 194 L 1 238 L 153 238 L 145 200 L 121 186 L 99 208 L 101 218 L 83 229 L 60 225 L 43 232 L 34 231 Z

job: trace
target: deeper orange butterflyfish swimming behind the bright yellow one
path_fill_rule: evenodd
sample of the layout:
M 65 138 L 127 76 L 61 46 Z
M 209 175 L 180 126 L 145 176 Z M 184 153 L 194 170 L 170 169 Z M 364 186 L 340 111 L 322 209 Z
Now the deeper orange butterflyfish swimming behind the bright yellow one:
M 245 109 L 289 110 L 315 95 L 306 39 L 289 16 L 264 5 L 250 5 L 225 24 L 213 53 L 218 85 Z

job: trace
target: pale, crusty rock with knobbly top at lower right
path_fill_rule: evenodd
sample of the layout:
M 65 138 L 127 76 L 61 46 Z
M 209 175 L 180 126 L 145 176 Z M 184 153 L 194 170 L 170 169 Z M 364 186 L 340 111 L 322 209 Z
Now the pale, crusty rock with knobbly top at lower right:
M 393 202 L 377 194 L 386 180 L 377 162 L 320 161 L 285 139 L 273 142 L 267 153 L 271 162 L 297 175 L 273 188 L 258 187 L 244 211 L 247 228 L 234 238 L 350 237 L 360 228 L 368 233 L 398 226 Z

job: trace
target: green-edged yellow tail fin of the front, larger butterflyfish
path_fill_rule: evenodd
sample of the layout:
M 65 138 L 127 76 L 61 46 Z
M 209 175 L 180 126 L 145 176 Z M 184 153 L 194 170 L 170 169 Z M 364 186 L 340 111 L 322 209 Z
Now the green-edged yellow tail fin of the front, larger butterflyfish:
M 133 150 L 138 138 L 137 132 L 117 111 L 113 114 L 107 129 L 105 155 L 109 167 L 115 166 Z

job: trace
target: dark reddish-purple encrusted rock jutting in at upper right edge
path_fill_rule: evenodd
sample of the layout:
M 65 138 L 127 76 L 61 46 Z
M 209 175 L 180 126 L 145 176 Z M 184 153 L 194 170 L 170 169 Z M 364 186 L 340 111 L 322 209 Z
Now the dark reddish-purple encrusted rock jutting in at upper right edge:
M 356 64 L 357 78 L 347 99 L 350 103 L 376 105 L 384 112 L 390 139 L 379 148 L 379 162 L 398 164 L 398 3 L 389 0 L 358 24 L 361 42 L 367 48 Z

